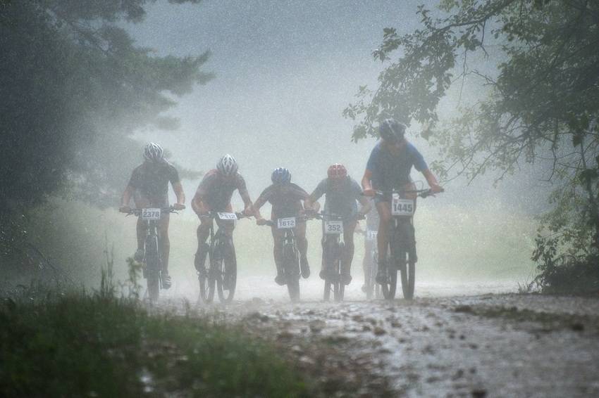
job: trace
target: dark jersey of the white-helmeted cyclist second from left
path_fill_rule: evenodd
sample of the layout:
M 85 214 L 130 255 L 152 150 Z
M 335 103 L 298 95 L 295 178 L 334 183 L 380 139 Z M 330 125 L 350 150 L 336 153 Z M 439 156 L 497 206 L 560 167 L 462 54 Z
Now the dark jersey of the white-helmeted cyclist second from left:
M 196 195 L 202 198 L 210 210 L 226 210 L 231 202 L 233 192 L 239 190 L 240 195 L 247 193 L 245 179 L 239 173 L 232 177 L 223 176 L 218 170 L 211 169 L 197 187 Z

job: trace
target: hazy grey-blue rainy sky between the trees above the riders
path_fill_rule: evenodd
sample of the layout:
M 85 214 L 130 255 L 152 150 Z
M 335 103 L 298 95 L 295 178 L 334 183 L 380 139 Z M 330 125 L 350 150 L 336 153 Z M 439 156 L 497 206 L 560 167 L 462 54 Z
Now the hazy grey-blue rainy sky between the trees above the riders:
M 419 27 L 417 1 L 205 1 L 148 7 L 146 20 L 129 26 L 137 44 L 159 55 L 212 52 L 206 70 L 216 79 L 180 98 L 172 114 L 177 132 L 149 131 L 173 160 L 193 169 L 214 168 L 230 153 L 240 163 L 252 199 L 270 183 L 271 170 L 288 167 L 308 191 L 333 162 L 357 180 L 375 141 L 350 141 L 353 123 L 342 110 L 362 84 L 376 86 L 381 63 L 371 51 L 383 27 Z M 410 138 L 430 162 L 436 150 Z M 422 176 L 412 172 L 415 179 Z M 198 181 L 184 183 L 188 196 Z M 460 184 L 462 185 L 462 184 Z M 459 188 L 459 195 L 476 188 Z M 498 193 L 499 195 L 500 193 Z M 453 198 L 452 198 L 453 197 Z M 456 196 L 448 192 L 446 200 Z

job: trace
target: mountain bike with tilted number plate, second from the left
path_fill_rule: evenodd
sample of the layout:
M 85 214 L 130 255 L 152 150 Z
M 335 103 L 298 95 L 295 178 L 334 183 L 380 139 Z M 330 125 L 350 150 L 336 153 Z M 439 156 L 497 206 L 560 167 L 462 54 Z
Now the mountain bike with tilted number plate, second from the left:
M 236 222 L 246 216 L 242 213 L 209 212 L 201 218 L 220 219 L 224 222 Z M 206 304 L 214 300 L 214 291 L 218 300 L 231 302 L 237 286 L 237 257 L 233 238 L 219 226 L 214 232 L 214 222 L 210 226 L 209 243 L 204 243 L 204 264 L 197 271 L 199 298 Z

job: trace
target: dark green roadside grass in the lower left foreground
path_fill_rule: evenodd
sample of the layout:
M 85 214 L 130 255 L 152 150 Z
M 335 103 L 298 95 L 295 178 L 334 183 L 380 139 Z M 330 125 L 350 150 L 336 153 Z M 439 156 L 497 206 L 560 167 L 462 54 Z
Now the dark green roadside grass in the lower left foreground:
M 305 397 L 266 342 L 214 319 L 152 314 L 106 291 L 0 304 L 3 397 Z M 316 393 L 318 395 L 318 393 Z

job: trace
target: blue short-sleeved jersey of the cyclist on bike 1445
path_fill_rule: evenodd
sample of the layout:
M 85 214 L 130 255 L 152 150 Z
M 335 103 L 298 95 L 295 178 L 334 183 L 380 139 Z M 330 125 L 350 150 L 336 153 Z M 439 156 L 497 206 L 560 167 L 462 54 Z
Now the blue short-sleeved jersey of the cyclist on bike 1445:
M 419 172 L 428 169 L 421 153 L 411 143 L 392 153 L 379 141 L 373 148 L 366 169 L 372 172 L 372 186 L 382 191 L 390 191 L 409 183 L 412 166 Z

